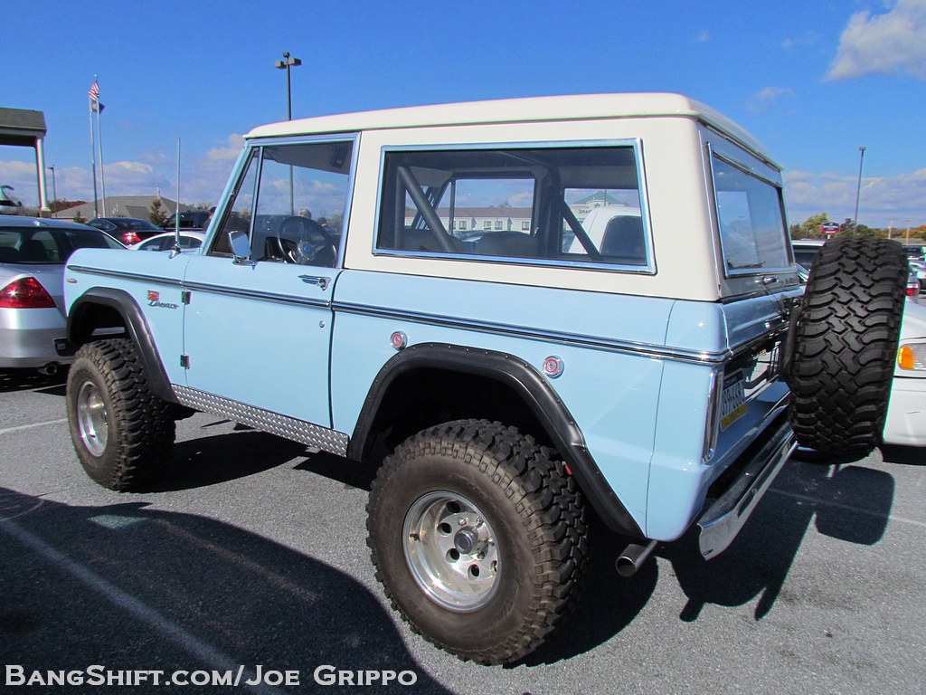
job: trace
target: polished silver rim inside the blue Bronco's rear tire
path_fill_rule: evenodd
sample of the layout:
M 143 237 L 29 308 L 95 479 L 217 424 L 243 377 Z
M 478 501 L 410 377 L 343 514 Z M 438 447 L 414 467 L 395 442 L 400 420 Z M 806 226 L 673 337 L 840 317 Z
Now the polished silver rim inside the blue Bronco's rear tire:
M 403 525 L 408 568 L 425 595 L 457 613 L 492 599 L 500 571 L 492 526 L 469 499 L 431 492 L 417 499 Z

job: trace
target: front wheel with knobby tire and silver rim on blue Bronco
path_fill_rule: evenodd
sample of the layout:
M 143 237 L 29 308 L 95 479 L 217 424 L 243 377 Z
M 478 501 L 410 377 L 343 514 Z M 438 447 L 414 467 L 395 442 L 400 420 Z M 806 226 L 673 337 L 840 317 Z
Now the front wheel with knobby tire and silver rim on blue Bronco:
M 171 407 L 148 388 L 131 340 L 82 346 L 70 367 L 67 401 L 74 449 L 100 485 L 137 488 L 169 461 L 176 429 Z

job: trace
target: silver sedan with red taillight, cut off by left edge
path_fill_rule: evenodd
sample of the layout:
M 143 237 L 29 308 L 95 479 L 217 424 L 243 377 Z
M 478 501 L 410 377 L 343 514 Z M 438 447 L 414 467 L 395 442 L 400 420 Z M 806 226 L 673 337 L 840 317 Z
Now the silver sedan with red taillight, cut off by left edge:
M 0 369 L 55 373 L 55 338 L 65 335 L 64 264 L 78 248 L 122 248 L 83 224 L 0 218 Z

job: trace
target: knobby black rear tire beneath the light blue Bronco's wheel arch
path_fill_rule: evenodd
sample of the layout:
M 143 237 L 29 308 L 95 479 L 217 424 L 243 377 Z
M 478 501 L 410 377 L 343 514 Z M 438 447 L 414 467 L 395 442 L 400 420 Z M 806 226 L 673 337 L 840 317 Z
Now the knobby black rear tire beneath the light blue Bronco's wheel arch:
M 497 541 L 494 592 L 464 599 L 464 610 L 425 593 L 407 550 L 421 543 L 406 537 L 409 515 L 442 496 L 471 501 Z M 394 610 L 463 660 L 519 660 L 574 603 L 588 557 L 582 497 L 554 452 L 513 427 L 461 420 L 410 437 L 383 462 L 367 512 L 376 577 Z

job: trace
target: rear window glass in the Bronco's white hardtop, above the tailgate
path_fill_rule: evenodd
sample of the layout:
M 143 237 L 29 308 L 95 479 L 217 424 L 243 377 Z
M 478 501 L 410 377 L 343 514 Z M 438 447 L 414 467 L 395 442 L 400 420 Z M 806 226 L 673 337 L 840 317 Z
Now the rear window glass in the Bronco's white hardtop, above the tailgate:
M 787 269 L 791 261 L 781 187 L 716 154 L 712 164 L 726 274 Z

